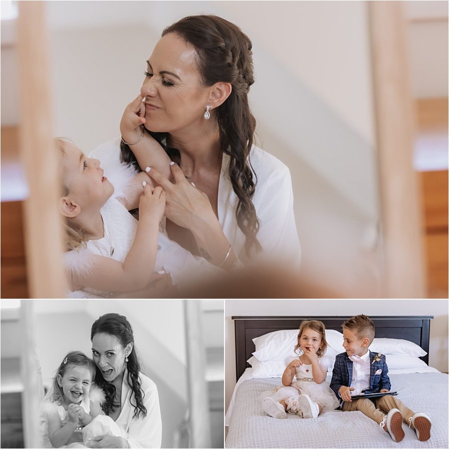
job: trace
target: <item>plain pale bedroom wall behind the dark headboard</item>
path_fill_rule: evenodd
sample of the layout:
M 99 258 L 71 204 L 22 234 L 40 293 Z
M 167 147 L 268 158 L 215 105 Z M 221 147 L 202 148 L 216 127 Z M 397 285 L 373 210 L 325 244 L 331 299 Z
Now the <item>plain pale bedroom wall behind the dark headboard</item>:
M 231 316 L 265 315 L 433 315 L 429 365 L 448 371 L 447 300 L 232 300 L 225 301 L 225 408 L 235 386 L 234 322 Z

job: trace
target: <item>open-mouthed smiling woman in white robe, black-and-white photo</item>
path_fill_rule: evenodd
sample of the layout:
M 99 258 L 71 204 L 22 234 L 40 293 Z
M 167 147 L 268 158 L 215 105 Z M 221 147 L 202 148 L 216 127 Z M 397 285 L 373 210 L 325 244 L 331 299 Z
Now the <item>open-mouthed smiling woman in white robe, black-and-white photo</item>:
M 140 372 L 133 330 L 123 315 L 108 313 L 92 325 L 95 382 L 106 394 L 105 414 L 125 431 L 125 438 L 99 436 L 91 448 L 160 448 L 161 411 L 154 382 Z

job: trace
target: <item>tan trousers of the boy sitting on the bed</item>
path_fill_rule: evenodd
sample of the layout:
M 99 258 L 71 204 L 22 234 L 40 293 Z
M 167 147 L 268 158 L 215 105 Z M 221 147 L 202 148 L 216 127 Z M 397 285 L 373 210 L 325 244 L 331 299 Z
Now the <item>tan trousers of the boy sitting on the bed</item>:
M 359 410 L 378 424 L 382 423 L 384 416 L 391 409 L 398 409 L 402 413 L 404 423 L 407 425 L 410 424 L 409 418 L 412 418 L 412 416 L 415 415 L 415 412 L 406 407 L 399 399 L 390 395 L 375 399 L 374 403 L 368 398 L 354 399 L 351 402 L 344 402 L 341 409 L 344 412 L 354 412 Z

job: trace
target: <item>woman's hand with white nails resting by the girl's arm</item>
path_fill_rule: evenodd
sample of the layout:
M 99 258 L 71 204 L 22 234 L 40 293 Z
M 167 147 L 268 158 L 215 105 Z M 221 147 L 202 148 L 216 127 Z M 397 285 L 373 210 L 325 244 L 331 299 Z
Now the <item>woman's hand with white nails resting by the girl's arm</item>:
M 190 183 L 181 168 L 173 163 L 175 183 L 151 168 L 148 175 L 166 192 L 165 216 L 179 226 L 192 230 L 199 222 L 217 221 L 208 196 Z

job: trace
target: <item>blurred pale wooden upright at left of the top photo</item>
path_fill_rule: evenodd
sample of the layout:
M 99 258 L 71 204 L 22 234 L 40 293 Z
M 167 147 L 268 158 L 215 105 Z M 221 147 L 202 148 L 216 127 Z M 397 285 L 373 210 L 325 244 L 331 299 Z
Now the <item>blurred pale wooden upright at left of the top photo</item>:
M 51 77 L 44 2 L 18 2 L 19 149 L 28 182 L 23 204 L 30 298 L 63 298 L 59 182 L 52 138 Z

